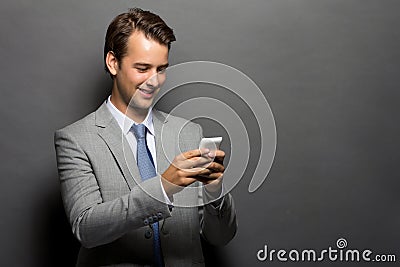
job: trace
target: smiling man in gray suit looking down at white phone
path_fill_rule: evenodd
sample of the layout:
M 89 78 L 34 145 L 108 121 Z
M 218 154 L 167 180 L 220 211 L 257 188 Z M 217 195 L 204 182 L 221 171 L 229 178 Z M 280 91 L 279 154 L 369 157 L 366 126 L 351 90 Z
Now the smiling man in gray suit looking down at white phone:
M 203 266 L 201 238 L 224 245 L 235 235 L 224 152 L 199 150 L 199 125 L 152 108 L 174 40 L 149 11 L 117 16 L 104 47 L 111 96 L 55 134 L 77 266 Z

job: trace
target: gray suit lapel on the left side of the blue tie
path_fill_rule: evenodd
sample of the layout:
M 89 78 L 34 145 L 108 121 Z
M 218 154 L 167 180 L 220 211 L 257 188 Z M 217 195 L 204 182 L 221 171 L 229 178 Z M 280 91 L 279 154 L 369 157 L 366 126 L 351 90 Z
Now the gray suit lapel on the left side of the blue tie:
M 95 116 L 99 136 L 109 147 L 129 189 L 132 189 L 135 184 L 139 183 L 140 174 L 128 141 L 105 103 L 99 107 Z

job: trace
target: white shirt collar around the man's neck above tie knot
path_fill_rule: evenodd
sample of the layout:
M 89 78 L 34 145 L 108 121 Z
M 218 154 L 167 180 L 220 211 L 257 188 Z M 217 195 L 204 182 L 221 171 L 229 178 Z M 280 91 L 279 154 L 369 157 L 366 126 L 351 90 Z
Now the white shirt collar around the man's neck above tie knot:
M 117 120 L 119 127 L 121 127 L 122 132 L 126 135 L 129 133 L 129 131 L 132 128 L 133 124 L 139 124 L 126 116 L 124 113 L 122 113 L 119 109 L 117 109 L 113 103 L 111 103 L 110 100 L 111 96 L 109 96 L 106 100 L 106 106 L 110 110 L 111 114 L 113 117 Z M 154 124 L 153 124 L 153 108 L 149 108 L 149 112 L 147 113 L 146 118 L 142 122 L 144 126 L 146 126 L 147 130 L 151 135 L 154 135 Z

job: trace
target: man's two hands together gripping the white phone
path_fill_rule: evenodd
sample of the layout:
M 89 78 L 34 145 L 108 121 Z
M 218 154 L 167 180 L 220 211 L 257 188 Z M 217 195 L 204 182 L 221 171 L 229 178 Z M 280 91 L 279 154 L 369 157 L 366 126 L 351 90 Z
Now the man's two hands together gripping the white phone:
M 195 181 L 220 184 L 225 168 L 222 164 L 225 153 L 222 150 L 195 149 L 176 156 L 172 164 L 161 175 L 167 195 L 173 195 Z

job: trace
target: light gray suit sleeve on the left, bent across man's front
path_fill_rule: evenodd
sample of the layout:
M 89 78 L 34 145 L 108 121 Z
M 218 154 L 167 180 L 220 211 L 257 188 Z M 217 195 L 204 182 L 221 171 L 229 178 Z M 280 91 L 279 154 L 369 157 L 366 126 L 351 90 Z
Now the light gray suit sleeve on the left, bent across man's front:
M 149 217 L 171 216 L 165 203 L 150 196 L 163 198 L 160 177 L 103 202 L 89 157 L 74 137 L 66 131 L 57 131 L 55 148 L 65 211 L 74 235 L 84 247 L 110 243 L 128 231 L 145 226 Z

